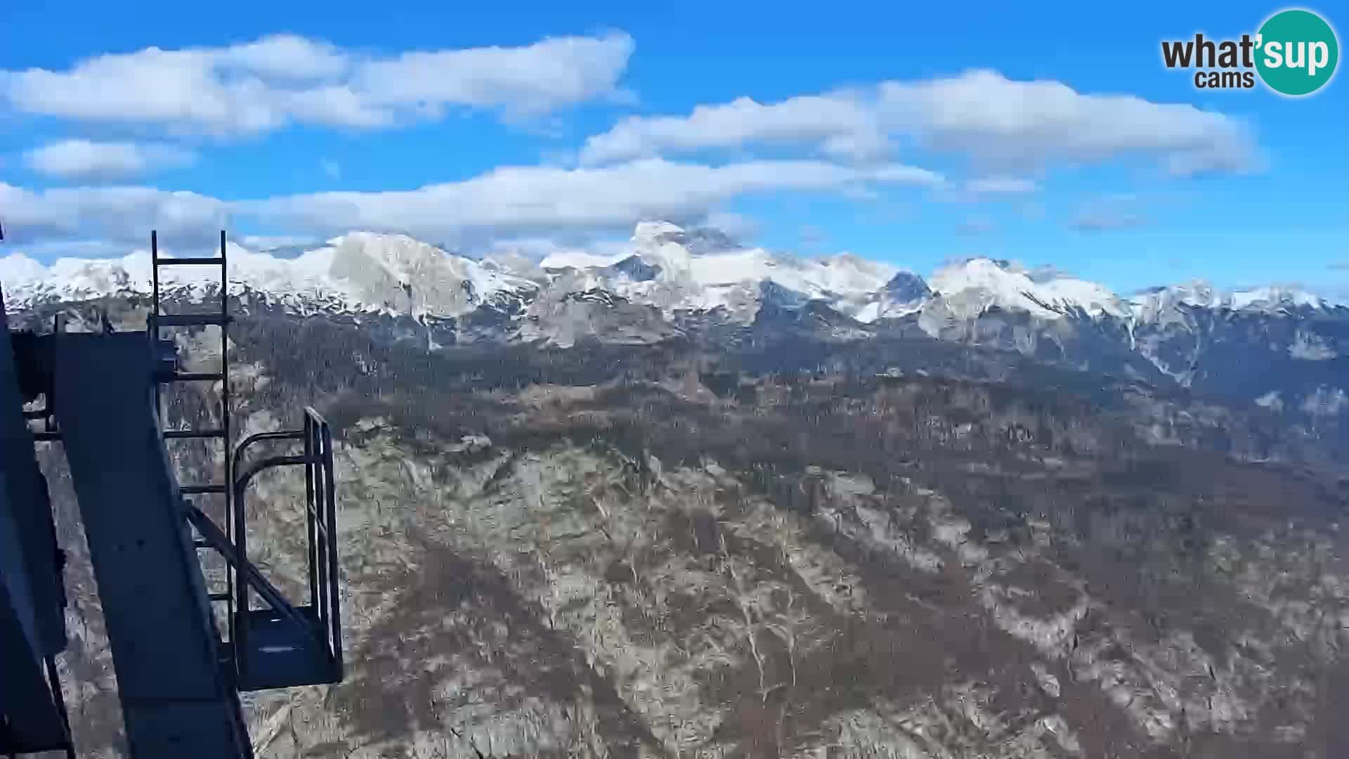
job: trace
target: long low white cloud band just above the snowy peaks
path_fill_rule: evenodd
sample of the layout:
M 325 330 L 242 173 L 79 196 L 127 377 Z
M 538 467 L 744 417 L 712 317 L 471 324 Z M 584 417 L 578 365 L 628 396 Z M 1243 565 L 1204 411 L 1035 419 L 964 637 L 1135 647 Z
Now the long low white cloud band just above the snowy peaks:
M 255 219 L 285 234 L 374 230 L 468 240 L 603 232 L 652 217 L 715 219 L 727 201 L 757 193 L 939 182 L 938 174 L 900 165 L 750 161 L 706 166 L 650 158 L 598 169 L 509 166 L 414 190 L 324 192 L 239 203 L 152 188 L 32 192 L 0 184 L 0 208 L 7 232 L 27 240 L 139 242 L 152 228 L 206 240 L 231 216 Z

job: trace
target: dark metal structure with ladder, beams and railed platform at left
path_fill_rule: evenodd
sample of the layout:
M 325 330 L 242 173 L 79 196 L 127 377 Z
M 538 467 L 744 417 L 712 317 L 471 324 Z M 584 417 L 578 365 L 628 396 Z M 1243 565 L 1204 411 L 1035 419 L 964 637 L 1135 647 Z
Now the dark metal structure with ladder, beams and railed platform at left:
M 66 646 L 63 554 L 34 442 L 61 442 L 70 466 L 135 759 L 251 759 L 240 690 L 343 679 L 332 434 L 306 408 L 299 429 L 231 448 L 225 253 L 221 232 L 219 257 L 161 258 L 151 235 L 144 332 L 105 319 L 101 334 L 66 334 L 58 319 L 50 335 L 18 334 L 16 355 L 0 304 L 0 754 L 71 751 L 54 659 Z M 219 266 L 219 309 L 163 313 L 162 266 Z M 219 370 L 182 371 L 162 331 L 212 325 Z M 219 407 L 197 428 L 166 429 L 161 390 L 173 382 L 219 384 Z M 39 397 L 43 408 L 24 408 Z M 166 448 L 178 440 L 214 446 L 219 478 L 179 485 Z M 236 477 L 260 444 L 282 448 Z M 248 560 L 248 485 L 274 467 L 304 474 L 304 602 Z M 208 587 L 202 551 L 224 560 L 224 585 Z

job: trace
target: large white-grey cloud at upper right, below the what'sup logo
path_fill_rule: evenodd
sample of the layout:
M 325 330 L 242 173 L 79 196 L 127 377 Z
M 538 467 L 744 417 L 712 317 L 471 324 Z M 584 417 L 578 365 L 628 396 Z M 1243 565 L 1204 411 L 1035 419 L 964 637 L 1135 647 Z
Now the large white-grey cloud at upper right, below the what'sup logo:
M 772 104 L 742 97 L 699 105 L 687 116 L 630 117 L 591 136 L 580 157 L 603 163 L 765 143 L 862 159 L 917 143 L 1017 173 L 1130 154 L 1186 176 L 1256 163 L 1251 136 L 1230 116 L 1132 95 L 1079 93 L 1058 81 L 1013 81 L 989 70 Z

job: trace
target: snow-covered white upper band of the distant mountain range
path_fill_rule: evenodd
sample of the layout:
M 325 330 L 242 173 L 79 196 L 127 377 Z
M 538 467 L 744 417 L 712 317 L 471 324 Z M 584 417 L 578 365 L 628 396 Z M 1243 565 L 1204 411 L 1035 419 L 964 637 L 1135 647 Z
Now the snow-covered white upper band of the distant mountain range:
M 1037 319 L 1114 317 L 1136 323 L 1164 319 L 1179 307 L 1230 311 L 1330 309 L 1295 289 L 1218 292 L 1206 284 L 1156 288 L 1132 297 L 1105 285 L 1006 261 L 971 258 L 948 263 L 928 280 L 898 266 L 850 254 L 799 258 L 739 247 L 724 235 L 687 231 L 665 221 L 637 226 L 627 250 L 599 255 L 565 251 L 533 262 L 518 255 L 471 259 L 403 235 L 352 232 L 324 246 L 278 255 L 231 243 L 229 289 L 295 311 L 382 312 L 414 319 L 451 319 L 482 307 L 604 292 L 653 307 L 666 319 L 722 313 L 751 321 L 777 293 L 816 301 L 862 324 L 936 312 L 974 319 L 990 309 Z M 11 311 L 51 301 L 148 293 L 150 254 L 123 258 L 62 258 L 43 266 L 22 254 L 0 258 L 0 284 Z M 213 286 L 209 267 L 162 269 L 170 292 Z

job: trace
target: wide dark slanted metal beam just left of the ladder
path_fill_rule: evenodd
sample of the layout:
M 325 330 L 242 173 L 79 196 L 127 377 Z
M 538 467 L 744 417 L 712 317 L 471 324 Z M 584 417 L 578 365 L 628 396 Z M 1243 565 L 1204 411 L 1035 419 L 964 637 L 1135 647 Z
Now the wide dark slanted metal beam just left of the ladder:
M 154 402 L 144 332 L 63 335 L 62 442 L 135 759 L 252 756 Z

